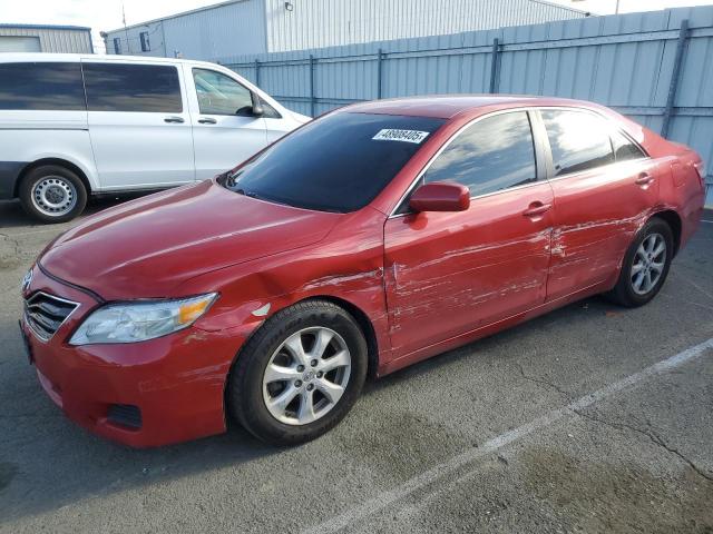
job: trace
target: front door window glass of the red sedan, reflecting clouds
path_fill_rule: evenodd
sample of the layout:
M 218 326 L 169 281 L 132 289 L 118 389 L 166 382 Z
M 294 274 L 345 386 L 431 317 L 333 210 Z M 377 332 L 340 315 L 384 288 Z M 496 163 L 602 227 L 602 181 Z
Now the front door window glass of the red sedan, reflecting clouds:
M 424 181 L 457 181 L 471 196 L 535 181 L 535 146 L 526 111 L 486 117 L 461 131 L 433 160 Z

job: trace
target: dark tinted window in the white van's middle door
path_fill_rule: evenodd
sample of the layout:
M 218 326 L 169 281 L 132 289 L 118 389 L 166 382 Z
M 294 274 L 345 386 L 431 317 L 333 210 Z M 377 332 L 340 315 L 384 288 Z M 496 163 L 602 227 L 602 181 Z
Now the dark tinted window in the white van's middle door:
M 183 111 L 176 67 L 86 62 L 82 69 L 89 111 Z

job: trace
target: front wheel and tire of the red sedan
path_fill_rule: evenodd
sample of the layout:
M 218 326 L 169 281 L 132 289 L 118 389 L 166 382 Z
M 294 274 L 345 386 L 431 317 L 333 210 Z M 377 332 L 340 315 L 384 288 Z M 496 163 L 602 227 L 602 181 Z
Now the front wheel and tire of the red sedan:
M 314 439 L 359 397 L 367 350 L 344 309 L 323 300 L 299 303 L 267 319 L 245 344 L 228 377 L 227 408 L 265 442 Z

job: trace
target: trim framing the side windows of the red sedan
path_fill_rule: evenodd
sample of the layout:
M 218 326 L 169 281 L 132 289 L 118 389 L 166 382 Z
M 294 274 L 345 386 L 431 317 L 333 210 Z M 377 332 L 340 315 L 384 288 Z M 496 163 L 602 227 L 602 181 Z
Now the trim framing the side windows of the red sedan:
M 413 190 L 413 188 L 416 187 L 416 185 L 420 181 L 421 178 L 423 178 L 423 175 L 426 172 L 428 172 L 428 169 L 431 167 L 431 165 L 433 164 L 433 161 L 436 160 L 436 158 L 438 158 L 441 152 L 443 150 L 446 150 L 448 148 L 448 146 L 456 140 L 456 138 L 458 138 L 462 131 L 469 127 L 471 127 L 472 125 L 479 122 L 480 120 L 488 118 L 488 117 L 494 117 L 496 115 L 502 115 L 502 113 L 510 113 L 510 112 L 517 112 L 517 111 L 541 111 L 541 110 L 547 110 L 547 109 L 558 109 L 558 110 L 564 110 L 564 111 L 578 111 L 578 112 L 585 112 L 585 113 L 592 113 L 595 115 L 596 117 L 599 117 L 600 119 L 603 119 L 607 126 L 611 127 L 611 131 L 616 131 L 621 135 L 623 135 L 626 139 L 628 139 L 629 141 L 632 141 L 641 151 L 642 154 L 644 154 L 643 158 L 637 158 L 637 159 L 627 159 L 625 161 L 613 161 L 609 165 L 605 165 L 603 167 L 593 167 L 592 169 L 586 169 L 586 170 L 579 170 L 579 171 L 575 171 L 575 172 L 568 172 L 566 175 L 561 175 L 561 176 L 553 176 L 547 177 L 545 179 L 537 179 L 530 184 L 522 184 L 521 186 L 514 186 L 514 187 L 508 187 L 506 189 L 499 189 L 497 191 L 491 191 L 491 192 L 486 192 L 482 195 L 476 195 L 470 197 L 470 200 L 477 200 L 479 198 L 484 198 L 484 197 L 489 197 L 492 195 L 499 195 L 501 192 L 507 192 L 507 191 L 512 191 L 512 190 L 517 190 L 517 189 L 524 189 L 526 187 L 530 187 L 537 184 L 543 184 L 545 181 L 555 181 L 555 180 L 560 180 L 563 178 L 573 178 L 576 176 L 580 176 L 585 172 L 589 172 L 592 170 L 597 170 L 597 169 L 605 169 L 607 167 L 613 167 L 616 165 L 623 165 L 623 164 L 631 164 L 632 161 L 646 161 L 646 160 L 651 160 L 651 156 L 648 155 L 648 152 L 646 152 L 646 150 L 644 150 L 644 147 L 642 147 L 638 142 L 636 142 L 635 139 L 632 139 L 632 137 L 624 131 L 622 128 L 618 127 L 618 125 L 615 123 L 615 121 L 613 119 L 611 119 L 609 117 L 606 117 L 605 115 L 602 115 L 599 111 L 594 110 L 594 109 L 588 109 L 588 108 L 580 108 L 578 106 L 524 106 L 524 107 L 518 107 L 518 108 L 508 108 L 508 109 L 500 109 L 497 111 L 491 111 L 489 113 L 486 115 L 481 115 L 480 117 L 476 117 L 475 119 L 470 120 L 469 122 L 467 122 L 466 125 L 463 125 L 462 127 L 460 127 L 451 137 L 450 139 L 448 139 L 443 146 L 441 148 L 438 149 L 438 151 L 426 162 L 426 165 L 423 166 L 423 168 L 419 171 L 419 174 L 417 175 L 417 177 L 414 178 L 414 180 L 411 182 L 411 185 L 407 188 L 406 192 L 403 195 L 401 195 L 401 197 L 399 198 L 399 201 L 394 205 L 393 209 L 391 210 L 391 212 L 389 214 L 389 217 L 387 219 L 395 219 L 399 217 L 406 217 L 407 215 L 413 215 L 413 214 L 397 214 L 397 210 L 401 207 L 401 205 L 403 204 L 403 201 L 406 200 L 406 198 L 411 194 L 411 191 Z M 530 125 L 530 130 L 531 130 L 531 125 Z M 533 131 L 533 141 L 535 141 L 535 132 Z M 549 139 L 547 139 L 547 142 L 549 144 Z M 612 147 L 612 150 L 614 150 L 614 147 Z M 551 147 L 549 147 L 549 155 L 551 158 Z M 537 158 L 537 150 L 535 150 L 535 157 Z M 615 155 L 616 157 L 616 155 Z M 535 165 L 537 166 L 537 161 L 535 161 Z

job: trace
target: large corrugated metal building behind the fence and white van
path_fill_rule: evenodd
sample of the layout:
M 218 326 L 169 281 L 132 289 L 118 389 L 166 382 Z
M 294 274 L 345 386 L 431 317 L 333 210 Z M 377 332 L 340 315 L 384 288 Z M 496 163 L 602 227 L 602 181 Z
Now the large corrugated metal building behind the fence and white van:
M 586 17 L 543 0 L 232 0 L 107 32 L 107 53 L 283 52 Z

